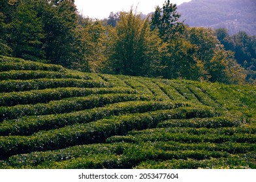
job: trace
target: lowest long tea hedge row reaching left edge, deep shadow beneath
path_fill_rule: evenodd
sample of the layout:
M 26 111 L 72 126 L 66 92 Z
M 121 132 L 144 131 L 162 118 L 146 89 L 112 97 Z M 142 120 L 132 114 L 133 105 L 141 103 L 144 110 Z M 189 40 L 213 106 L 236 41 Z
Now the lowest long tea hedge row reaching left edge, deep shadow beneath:
M 142 106 L 142 108 L 144 108 L 144 106 Z M 153 107 L 153 109 L 155 108 L 156 106 Z M 116 107 L 116 109 L 119 110 L 120 107 Z M 136 110 L 138 110 L 138 108 Z M 161 120 L 198 115 L 199 112 L 197 110 L 198 109 L 189 109 L 186 107 L 172 110 L 157 110 L 142 114 L 137 113 L 112 116 L 109 119 L 98 120 L 97 122 L 68 125 L 60 129 L 40 131 L 32 136 L 1 136 L 0 159 L 6 159 L 11 155 L 28 153 L 31 151 L 46 151 L 50 149 L 67 148 L 69 146 L 80 144 L 104 142 L 104 140 L 110 136 L 125 135 L 128 131 L 133 129 L 146 129 L 148 127 L 155 127 Z M 187 112 L 190 113 L 188 114 Z M 209 110 L 201 109 L 200 114 L 202 116 L 209 114 Z M 97 118 L 97 116 L 95 116 L 95 118 Z M 72 119 L 72 122 L 76 120 L 76 118 Z M 61 117 L 61 119 L 57 122 L 67 123 L 67 120 Z M 27 128 L 34 129 L 33 127 L 35 127 L 35 125 L 40 125 L 38 129 L 42 127 L 42 123 L 35 123 L 35 125 L 33 125 L 34 123 L 35 122 L 31 122 L 31 125 Z M 56 124 L 59 123 L 54 123 L 52 121 L 49 123 L 50 127 Z M 25 124 L 24 126 L 26 127 Z M 27 130 L 24 130 L 24 132 L 27 132 Z

